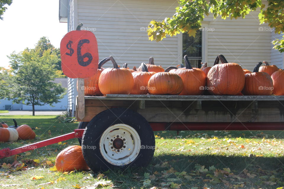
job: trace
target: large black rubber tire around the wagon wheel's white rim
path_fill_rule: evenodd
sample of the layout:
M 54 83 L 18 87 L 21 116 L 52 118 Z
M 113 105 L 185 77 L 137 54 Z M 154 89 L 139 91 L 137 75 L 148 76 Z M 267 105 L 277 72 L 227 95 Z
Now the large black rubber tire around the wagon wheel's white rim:
M 108 161 L 106 161 L 106 159 L 104 159 L 100 151 L 99 143 L 100 143 L 100 140 L 103 141 L 103 139 L 101 139 L 101 136 L 104 133 L 104 131 L 106 131 L 106 129 L 108 129 L 110 126 L 114 126 L 115 124 L 120 124 L 120 123 L 128 125 L 131 128 L 135 129 L 135 131 L 138 133 L 140 137 L 141 146 L 139 146 L 140 151 L 136 153 L 136 155 L 137 154 L 138 155 L 135 157 L 135 159 L 132 162 L 126 165 L 124 164 L 124 165 L 117 166 L 117 165 L 109 163 Z M 116 130 L 119 130 L 119 129 L 116 129 Z M 112 131 L 106 132 L 106 133 L 111 133 Z M 106 138 L 106 140 L 109 140 L 109 138 Z M 134 141 L 133 137 L 132 137 L 132 140 Z M 87 147 L 84 147 L 84 146 L 87 146 Z M 92 146 L 92 148 L 89 148 L 88 146 Z M 145 146 L 149 146 L 149 147 L 145 147 Z M 105 150 L 105 148 L 102 150 Z M 132 110 L 125 109 L 125 108 L 112 108 L 112 109 L 105 110 L 99 113 L 90 121 L 90 123 L 88 124 L 88 127 L 86 127 L 83 133 L 82 151 L 83 151 L 83 156 L 84 156 L 85 161 L 87 162 L 91 170 L 93 170 L 94 172 L 98 170 L 111 170 L 113 168 L 123 168 L 124 169 L 129 166 L 142 167 L 142 166 L 147 166 L 149 162 L 151 161 L 152 157 L 154 156 L 155 137 L 154 137 L 154 133 L 152 131 L 151 126 L 149 125 L 148 121 L 142 115 Z M 114 152 L 111 152 L 111 153 L 114 153 Z M 119 153 L 117 152 L 117 154 Z

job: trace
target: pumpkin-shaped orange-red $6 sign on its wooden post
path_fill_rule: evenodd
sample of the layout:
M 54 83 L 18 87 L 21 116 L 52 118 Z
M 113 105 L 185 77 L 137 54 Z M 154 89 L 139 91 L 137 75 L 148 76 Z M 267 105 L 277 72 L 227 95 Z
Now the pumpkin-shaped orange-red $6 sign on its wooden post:
M 68 32 L 60 42 L 61 68 L 70 78 L 78 78 L 78 117 L 85 117 L 84 79 L 97 74 L 99 63 L 98 43 L 90 31 L 80 30 L 83 23 L 75 31 Z

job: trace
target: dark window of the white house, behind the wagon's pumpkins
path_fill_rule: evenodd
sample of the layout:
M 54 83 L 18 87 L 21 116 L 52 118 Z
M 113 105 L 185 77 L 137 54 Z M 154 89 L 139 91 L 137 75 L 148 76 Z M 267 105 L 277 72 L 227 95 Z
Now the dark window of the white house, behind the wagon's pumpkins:
M 183 33 L 183 57 L 187 55 L 192 67 L 201 68 L 202 31 L 197 30 L 195 38 Z M 183 61 L 184 63 L 184 61 Z

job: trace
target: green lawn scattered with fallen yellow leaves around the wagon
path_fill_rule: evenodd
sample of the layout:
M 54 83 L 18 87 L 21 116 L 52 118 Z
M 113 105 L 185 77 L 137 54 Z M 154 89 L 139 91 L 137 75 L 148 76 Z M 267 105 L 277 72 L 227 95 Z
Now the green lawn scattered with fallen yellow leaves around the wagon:
M 56 116 L 1 116 L 0 121 L 13 125 L 12 118 L 19 125 L 36 128 L 36 138 L 0 143 L 0 149 L 69 133 L 78 125 L 62 123 Z M 155 132 L 155 137 L 154 158 L 143 168 L 71 173 L 50 170 L 57 154 L 67 146 L 78 145 L 77 139 L 0 159 L 0 166 L 17 160 L 26 167 L 14 172 L 0 168 L 0 188 L 88 188 L 85 186 L 96 185 L 97 188 L 121 189 L 155 186 L 276 189 L 284 186 L 282 131 L 161 131 Z M 39 179 L 32 180 L 35 176 Z

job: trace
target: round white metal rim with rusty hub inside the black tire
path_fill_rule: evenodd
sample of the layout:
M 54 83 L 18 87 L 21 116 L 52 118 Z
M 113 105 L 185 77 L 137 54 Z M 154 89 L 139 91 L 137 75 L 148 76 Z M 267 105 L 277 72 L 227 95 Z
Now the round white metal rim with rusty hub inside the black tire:
M 138 156 L 141 140 L 137 131 L 126 124 L 115 124 L 107 128 L 100 139 L 100 152 L 110 164 L 130 164 Z

